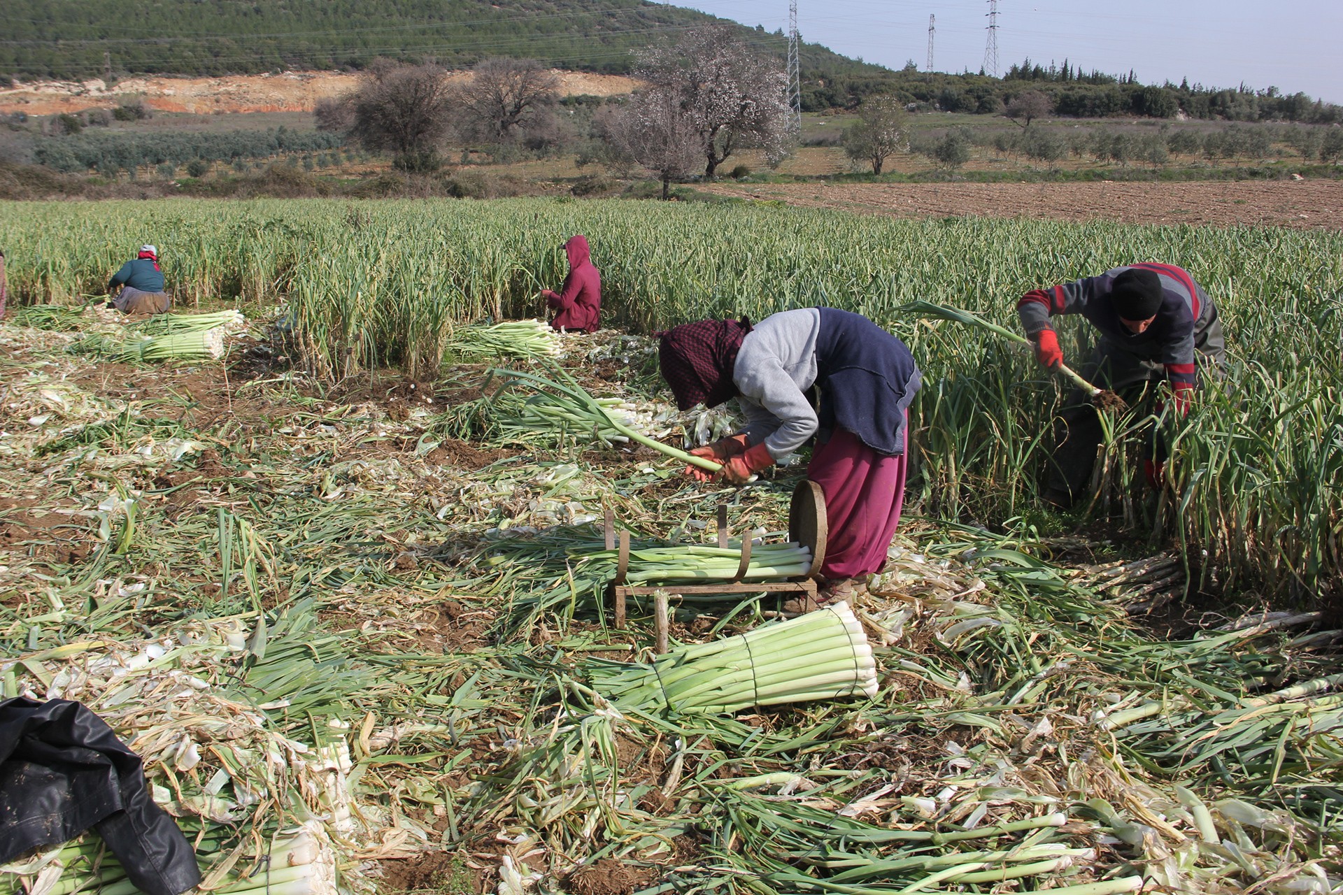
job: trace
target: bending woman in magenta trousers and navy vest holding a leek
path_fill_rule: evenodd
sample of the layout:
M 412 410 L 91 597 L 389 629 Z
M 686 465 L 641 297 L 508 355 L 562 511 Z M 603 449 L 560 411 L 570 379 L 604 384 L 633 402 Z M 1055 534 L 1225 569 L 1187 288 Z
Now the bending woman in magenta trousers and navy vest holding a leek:
M 807 478 L 826 498 L 823 593 L 842 598 L 865 586 L 886 562 L 904 505 L 909 403 L 921 382 L 905 344 L 860 314 L 808 307 L 756 326 L 743 318 L 673 327 L 659 361 L 682 411 L 737 399 L 745 429 L 692 451 L 723 463 L 728 482 L 744 483 L 815 436 Z

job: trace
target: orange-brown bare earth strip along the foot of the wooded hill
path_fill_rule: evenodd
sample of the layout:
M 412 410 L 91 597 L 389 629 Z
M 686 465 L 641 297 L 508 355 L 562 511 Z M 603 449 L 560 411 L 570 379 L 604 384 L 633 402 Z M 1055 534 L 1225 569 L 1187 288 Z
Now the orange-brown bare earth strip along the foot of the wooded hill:
M 620 75 L 556 71 L 560 95 L 610 97 L 634 90 L 634 81 Z M 453 81 L 470 74 L 453 72 Z M 158 111 L 195 114 L 310 111 L 318 99 L 348 91 L 357 75 L 338 71 L 286 71 L 278 75 L 231 75 L 227 78 L 128 78 L 113 85 L 94 78 L 83 82 L 38 81 L 0 90 L 0 114 L 24 111 L 56 115 L 86 109 L 107 109 L 138 97 Z

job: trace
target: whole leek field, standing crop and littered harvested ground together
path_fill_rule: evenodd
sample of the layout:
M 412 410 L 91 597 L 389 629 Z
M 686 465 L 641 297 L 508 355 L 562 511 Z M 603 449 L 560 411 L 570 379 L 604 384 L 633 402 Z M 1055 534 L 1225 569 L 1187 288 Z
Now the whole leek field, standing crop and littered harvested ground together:
M 533 345 L 481 326 L 543 315 L 577 232 L 610 330 Z M 223 360 L 128 353 L 134 331 L 82 309 L 145 242 L 179 311 L 246 314 Z M 0 248 L 0 695 L 103 717 L 208 891 L 1343 887 L 1338 232 L 631 201 L 11 203 Z M 1065 386 L 907 306 L 1015 329 L 1027 288 L 1135 260 L 1207 288 L 1226 377 L 1159 420 L 1158 492 L 1135 474 L 1143 420 L 1119 415 L 1096 499 L 1049 513 Z M 831 625 L 866 637 L 862 683 L 806 683 L 842 675 L 768 640 L 772 597 L 673 597 L 673 656 L 654 664 L 651 604 L 631 602 L 629 629 L 603 609 L 594 521 L 615 511 L 641 580 L 697 553 L 735 566 L 740 546 L 677 546 L 712 542 L 720 501 L 736 537 L 761 539 L 752 556 L 795 562 L 780 531 L 802 474 L 701 486 L 622 440 L 731 425 L 667 405 L 649 334 L 810 305 L 866 314 L 924 370 L 890 565 Z M 1061 334 L 1080 362 L 1088 330 Z M 623 423 L 575 416 L 543 378 Z M 768 663 L 737 645 L 748 632 L 780 644 Z M 689 662 L 717 655 L 771 678 L 705 692 L 717 675 Z M 132 895 L 125 876 L 90 833 L 0 865 L 0 895 Z

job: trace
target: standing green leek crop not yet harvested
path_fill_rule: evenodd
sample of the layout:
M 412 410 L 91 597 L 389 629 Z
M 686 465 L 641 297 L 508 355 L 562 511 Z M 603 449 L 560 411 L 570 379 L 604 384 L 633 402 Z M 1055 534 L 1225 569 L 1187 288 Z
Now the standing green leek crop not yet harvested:
M 1099 511 L 1182 542 L 1205 576 L 1309 602 L 1343 598 L 1343 235 L 1025 219 L 897 220 L 743 205 L 622 201 L 255 201 L 0 207 L 11 291 L 67 301 L 101 288 L 142 242 L 183 301 L 287 302 L 314 372 L 438 368 L 451 326 L 532 317 L 582 232 L 603 274 L 604 322 L 647 331 L 713 315 L 827 305 L 912 348 L 925 513 L 1029 515 L 1060 386 L 995 335 L 901 314 L 915 299 L 1014 326 L 1027 288 L 1135 260 L 1187 268 L 1213 295 L 1230 366 L 1185 421 L 1167 499 L 1123 463 L 1119 420 Z M 1061 326 L 1080 360 L 1089 331 Z M 1140 476 L 1138 476 L 1140 479 Z

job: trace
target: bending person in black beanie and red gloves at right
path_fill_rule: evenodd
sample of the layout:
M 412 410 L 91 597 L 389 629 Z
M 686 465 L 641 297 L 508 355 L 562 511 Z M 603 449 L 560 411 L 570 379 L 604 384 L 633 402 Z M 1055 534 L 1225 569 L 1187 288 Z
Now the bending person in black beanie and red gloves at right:
M 1187 411 L 1198 385 L 1198 364 L 1221 365 L 1226 352 L 1217 306 L 1187 271 L 1174 264 L 1116 267 L 1100 276 L 1035 288 L 1017 302 L 1017 314 L 1035 344 L 1035 357 L 1050 369 L 1064 362 L 1064 352 L 1049 318 L 1081 314 L 1100 333 L 1081 374 L 1119 392 L 1129 404 L 1166 380 L 1180 413 Z M 1091 396 L 1076 389 L 1054 431 L 1045 501 L 1068 507 L 1081 496 L 1100 439 L 1101 424 Z M 1144 456 L 1152 487 L 1159 483 L 1164 459 L 1164 445 L 1154 433 Z

